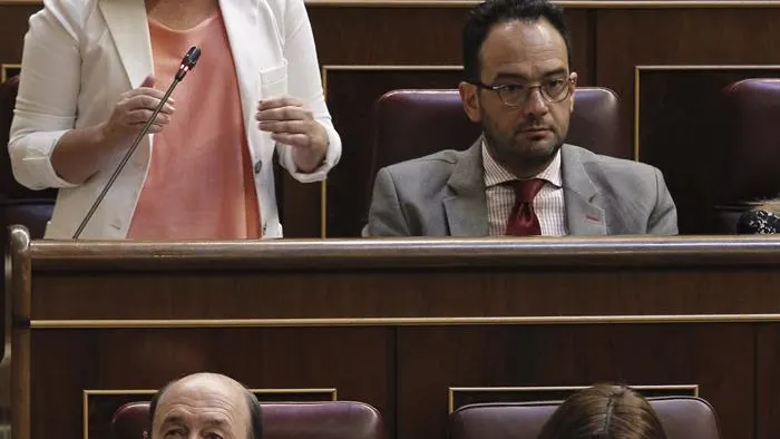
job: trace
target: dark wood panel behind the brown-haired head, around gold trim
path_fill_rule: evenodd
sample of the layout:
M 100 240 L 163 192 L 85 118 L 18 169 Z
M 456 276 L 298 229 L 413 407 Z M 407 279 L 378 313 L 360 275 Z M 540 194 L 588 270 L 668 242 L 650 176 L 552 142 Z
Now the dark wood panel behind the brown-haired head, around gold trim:
M 450 387 L 594 382 L 699 384 L 720 414 L 723 438 L 753 437 L 755 345 L 749 325 L 401 329 L 398 345 L 399 438 L 443 439 L 447 412 L 429 408 L 447 404 Z M 416 414 L 425 411 L 430 416 Z

